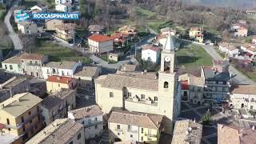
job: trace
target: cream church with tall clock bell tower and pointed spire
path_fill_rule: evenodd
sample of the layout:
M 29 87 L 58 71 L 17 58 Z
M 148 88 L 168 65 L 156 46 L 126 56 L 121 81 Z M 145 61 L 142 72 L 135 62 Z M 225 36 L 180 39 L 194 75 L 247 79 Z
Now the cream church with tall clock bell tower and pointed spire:
M 123 72 L 102 75 L 95 81 L 95 97 L 104 113 L 112 107 L 130 111 L 166 115 L 172 132 L 172 120 L 180 111 L 181 84 L 175 69 L 174 42 L 169 35 L 162 50 L 161 68 L 155 73 Z

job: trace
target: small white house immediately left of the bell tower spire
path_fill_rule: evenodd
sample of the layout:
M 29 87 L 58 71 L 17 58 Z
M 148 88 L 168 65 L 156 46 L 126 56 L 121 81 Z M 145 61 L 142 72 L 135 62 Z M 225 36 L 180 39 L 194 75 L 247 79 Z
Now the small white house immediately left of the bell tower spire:
M 160 49 L 158 46 L 146 44 L 142 46 L 142 59 L 151 62 L 158 63 L 160 59 Z

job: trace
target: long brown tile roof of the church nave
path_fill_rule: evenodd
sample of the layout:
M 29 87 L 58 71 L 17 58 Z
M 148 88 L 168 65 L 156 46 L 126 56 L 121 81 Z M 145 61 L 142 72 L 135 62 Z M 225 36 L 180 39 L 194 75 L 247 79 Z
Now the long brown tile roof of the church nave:
M 143 75 L 132 73 L 108 74 L 101 82 L 103 87 L 117 90 L 122 90 L 122 88 L 126 86 L 142 90 L 158 91 L 158 79 L 155 79 L 154 75 L 155 74 Z

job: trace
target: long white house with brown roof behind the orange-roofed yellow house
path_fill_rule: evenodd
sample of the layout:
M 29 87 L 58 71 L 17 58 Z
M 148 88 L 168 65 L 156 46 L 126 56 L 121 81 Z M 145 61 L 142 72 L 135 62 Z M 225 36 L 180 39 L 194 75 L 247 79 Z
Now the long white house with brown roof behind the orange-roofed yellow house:
M 81 62 L 48 62 L 42 66 L 42 76 L 47 79 L 49 76 L 58 75 L 74 78 L 75 70 L 82 66 Z

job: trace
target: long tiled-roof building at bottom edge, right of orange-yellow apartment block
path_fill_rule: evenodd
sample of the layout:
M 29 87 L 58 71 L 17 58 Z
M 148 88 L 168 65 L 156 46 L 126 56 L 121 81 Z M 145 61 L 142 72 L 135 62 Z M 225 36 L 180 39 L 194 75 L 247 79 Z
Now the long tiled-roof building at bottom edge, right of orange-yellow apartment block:
M 69 118 L 56 119 L 26 144 L 85 144 L 82 124 Z

